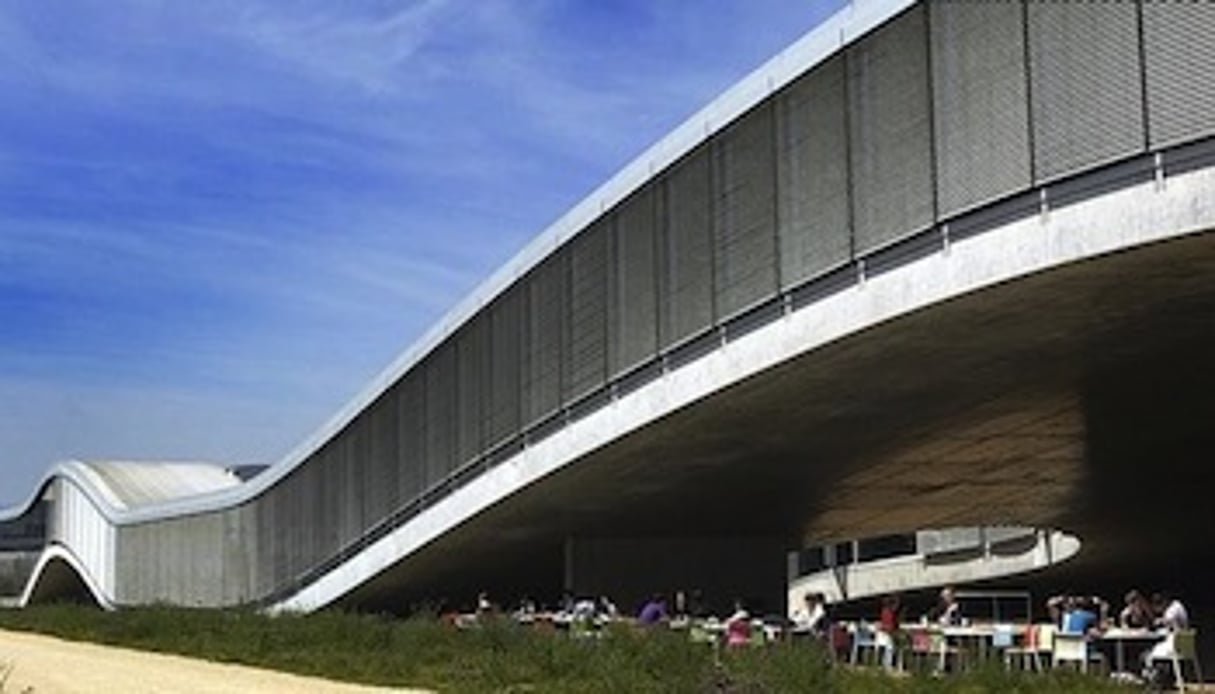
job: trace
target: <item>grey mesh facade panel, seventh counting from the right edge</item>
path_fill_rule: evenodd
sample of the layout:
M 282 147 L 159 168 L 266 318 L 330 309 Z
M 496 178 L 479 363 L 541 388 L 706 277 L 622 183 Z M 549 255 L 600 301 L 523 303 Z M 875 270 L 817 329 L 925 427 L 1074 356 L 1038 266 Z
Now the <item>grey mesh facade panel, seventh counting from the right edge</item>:
M 713 219 L 708 147 L 663 177 L 661 343 L 671 346 L 713 323 Z

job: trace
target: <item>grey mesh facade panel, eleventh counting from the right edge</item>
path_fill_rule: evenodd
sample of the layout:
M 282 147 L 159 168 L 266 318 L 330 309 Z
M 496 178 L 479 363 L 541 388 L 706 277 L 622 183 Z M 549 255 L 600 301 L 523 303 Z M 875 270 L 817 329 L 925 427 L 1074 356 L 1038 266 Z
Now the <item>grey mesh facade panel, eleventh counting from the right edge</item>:
M 486 442 L 495 445 L 519 431 L 520 379 L 525 309 L 520 286 L 512 287 L 490 309 L 493 363 L 490 377 Z

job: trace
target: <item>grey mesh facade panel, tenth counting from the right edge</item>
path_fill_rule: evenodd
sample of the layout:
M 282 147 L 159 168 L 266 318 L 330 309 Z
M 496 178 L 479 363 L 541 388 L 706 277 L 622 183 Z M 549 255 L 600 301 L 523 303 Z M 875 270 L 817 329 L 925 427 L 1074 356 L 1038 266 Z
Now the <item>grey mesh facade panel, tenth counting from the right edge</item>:
M 527 287 L 527 368 L 524 382 L 526 424 L 555 412 L 561 397 L 561 342 L 566 271 L 564 253 L 549 256 L 529 272 Z

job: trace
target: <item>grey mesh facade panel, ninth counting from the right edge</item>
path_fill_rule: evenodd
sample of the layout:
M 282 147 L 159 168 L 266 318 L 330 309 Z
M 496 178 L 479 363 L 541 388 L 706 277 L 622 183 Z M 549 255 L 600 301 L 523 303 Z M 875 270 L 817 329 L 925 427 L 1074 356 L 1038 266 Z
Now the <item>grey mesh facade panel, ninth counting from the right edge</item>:
M 603 385 L 608 371 L 608 241 L 610 227 L 597 222 L 580 233 L 569 253 L 570 299 L 563 401 Z

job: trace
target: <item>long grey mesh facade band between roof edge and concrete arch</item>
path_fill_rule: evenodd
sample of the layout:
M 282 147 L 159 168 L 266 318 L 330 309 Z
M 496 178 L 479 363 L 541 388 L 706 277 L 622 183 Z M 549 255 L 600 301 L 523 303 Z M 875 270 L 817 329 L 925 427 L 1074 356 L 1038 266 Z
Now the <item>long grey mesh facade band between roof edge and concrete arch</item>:
M 120 526 L 119 600 L 264 599 L 779 290 L 1035 182 L 1211 135 L 1213 35 L 1209 4 L 910 9 L 654 171 L 270 490 Z

